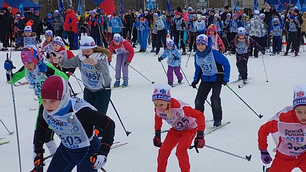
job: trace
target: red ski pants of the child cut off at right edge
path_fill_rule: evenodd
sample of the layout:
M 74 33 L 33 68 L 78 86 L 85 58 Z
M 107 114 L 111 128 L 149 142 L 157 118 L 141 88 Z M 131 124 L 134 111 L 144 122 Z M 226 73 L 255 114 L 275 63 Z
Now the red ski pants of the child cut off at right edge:
M 302 172 L 306 172 L 306 153 L 299 155 L 296 159 L 292 157 L 286 158 L 286 155 L 276 151 L 275 159 L 269 172 L 291 172 L 294 168 L 300 168 Z

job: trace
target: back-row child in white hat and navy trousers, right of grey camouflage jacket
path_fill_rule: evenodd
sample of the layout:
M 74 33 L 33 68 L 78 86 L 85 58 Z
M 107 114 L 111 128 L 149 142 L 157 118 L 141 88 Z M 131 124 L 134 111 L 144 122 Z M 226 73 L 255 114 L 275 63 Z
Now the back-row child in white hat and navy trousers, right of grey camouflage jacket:
M 273 36 L 273 56 L 275 56 L 275 53 L 279 55 L 281 51 L 281 45 L 282 45 L 282 39 L 281 39 L 281 32 L 282 27 L 278 24 L 278 19 L 275 18 L 272 20 L 273 26 L 271 27 L 271 34 Z

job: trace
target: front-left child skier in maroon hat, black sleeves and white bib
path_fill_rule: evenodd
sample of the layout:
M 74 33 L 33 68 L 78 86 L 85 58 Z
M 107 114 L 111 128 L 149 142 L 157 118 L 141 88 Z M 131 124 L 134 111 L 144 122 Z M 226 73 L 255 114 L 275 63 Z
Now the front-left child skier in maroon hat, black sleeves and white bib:
M 44 111 L 37 117 L 34 134 L 34 169 L 43 172 L 43 140 L 49 127 L 59 136 L 61 144 L 48 167 L 48 172 L 97 172 L 107 160 L 114 142 L 114 121 L 97 111 L 86 101 L 69 96 L 67 82 L 59 77 L 49 77 L 41 87 Z M 51 122 L 54 121 L 54 122 Z M 49 124 L 48 124 L 49 123 Z M 64 125 L 60 125 L 64 123 Z M 94 127 L 103 128 L 99 142 Z

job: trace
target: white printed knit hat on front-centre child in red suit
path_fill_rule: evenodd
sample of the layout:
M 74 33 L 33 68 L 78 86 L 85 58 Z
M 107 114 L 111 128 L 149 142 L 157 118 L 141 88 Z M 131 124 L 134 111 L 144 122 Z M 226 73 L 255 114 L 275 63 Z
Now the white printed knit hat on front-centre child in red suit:
M 171 100 L 171 93 L 170 93 L 170 86 L 166 83 L 158 83 L 154 87 L 152 101 L 153 100 L 164 100 L 170 102 Z

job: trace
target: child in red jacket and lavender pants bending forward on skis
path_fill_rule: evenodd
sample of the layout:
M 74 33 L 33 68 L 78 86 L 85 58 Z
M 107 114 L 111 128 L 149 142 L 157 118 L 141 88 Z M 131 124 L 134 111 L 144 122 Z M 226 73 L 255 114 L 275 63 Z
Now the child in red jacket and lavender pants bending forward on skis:
M 123 74 L 122 86 L 128 86 L 128 65 L 134 57 L 133 47 L 127 40 L 123 39 L 120 34 L 116 33 L 108 50 L 111 54 L 113 54 L 114 51 L 116 51 L 117 54 L 115 75 L 116 82 L 114 83 L 114 87 L 120 86 L 121 70 Z

